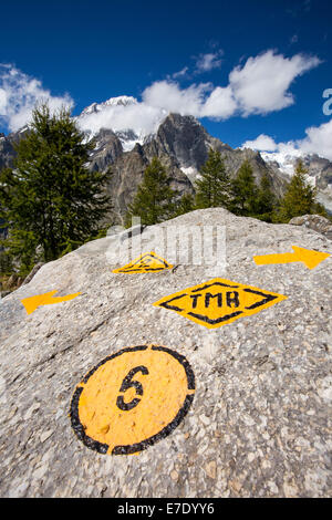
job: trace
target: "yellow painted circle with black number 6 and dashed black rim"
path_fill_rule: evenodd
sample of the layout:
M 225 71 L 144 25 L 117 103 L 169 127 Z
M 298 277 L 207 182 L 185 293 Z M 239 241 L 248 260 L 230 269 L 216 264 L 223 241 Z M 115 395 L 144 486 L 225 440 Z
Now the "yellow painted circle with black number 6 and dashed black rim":
M 100 454 L 137 454 L 179 425 L 194 393 L 195 376 L 183 355 L 160 345 L 125 347 L 76 386 L 72 428 Z

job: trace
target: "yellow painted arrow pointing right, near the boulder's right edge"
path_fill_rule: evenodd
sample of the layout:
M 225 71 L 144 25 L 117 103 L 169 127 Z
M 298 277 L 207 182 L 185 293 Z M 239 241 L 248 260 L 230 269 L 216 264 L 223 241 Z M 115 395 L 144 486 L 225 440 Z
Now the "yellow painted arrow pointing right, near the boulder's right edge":
M 303 262 L 308 269 L 314 269 L 325 258 L 330 257 L 328 252 L 312 251 L 311 249 L 299 248 L 292 246 L 294 252 L 274 253 L 274 254 L 262 254 L 253 257 L 257 266 L 264 266 L 266 263 L 291 263 L 291 262 Z

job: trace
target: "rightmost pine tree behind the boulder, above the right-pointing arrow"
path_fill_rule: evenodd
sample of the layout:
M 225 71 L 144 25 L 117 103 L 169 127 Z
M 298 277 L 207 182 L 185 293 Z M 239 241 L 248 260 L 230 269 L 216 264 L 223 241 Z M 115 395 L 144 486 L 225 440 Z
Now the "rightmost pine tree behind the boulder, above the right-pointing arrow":
M 281 221 L 289 222 L 293 217 L 314 212 L 317 207 L 315 188 L 307 183 L 307 174 L 308 169 L 304 168 L 302 160 L 299 160 L 280 204 Z

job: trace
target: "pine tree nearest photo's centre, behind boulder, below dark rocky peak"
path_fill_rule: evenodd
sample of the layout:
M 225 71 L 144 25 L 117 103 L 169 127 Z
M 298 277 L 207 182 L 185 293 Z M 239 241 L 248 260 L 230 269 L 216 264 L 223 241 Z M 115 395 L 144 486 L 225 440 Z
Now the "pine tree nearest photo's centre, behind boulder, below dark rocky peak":
M 175 211 L 174 197 L 176 191 L 169 187 L 169 177 L 157 157 L 144 171 L 134 200 L 128 206 L 126 225 L 131 226 L 132 217 L 141 217 L 147 226 L 170 218 Z

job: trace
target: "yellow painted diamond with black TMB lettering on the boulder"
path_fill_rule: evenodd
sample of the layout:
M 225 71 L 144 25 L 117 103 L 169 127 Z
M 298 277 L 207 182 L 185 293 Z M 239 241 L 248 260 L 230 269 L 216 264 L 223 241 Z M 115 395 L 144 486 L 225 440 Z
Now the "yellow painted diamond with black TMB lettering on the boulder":
M 277 292 L 215 278 L 162 298 L 154 305 L 175 311 L 208 329 L 217 329 L 286 299 Z

